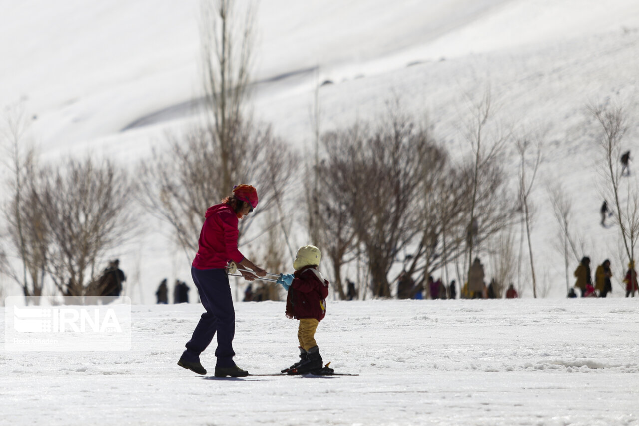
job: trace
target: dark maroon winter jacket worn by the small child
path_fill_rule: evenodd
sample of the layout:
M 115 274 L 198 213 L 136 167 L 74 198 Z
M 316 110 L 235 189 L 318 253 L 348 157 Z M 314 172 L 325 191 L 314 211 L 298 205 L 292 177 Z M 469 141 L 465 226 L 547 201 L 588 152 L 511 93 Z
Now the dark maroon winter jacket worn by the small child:
M 287 317 L 324 319 L 329 283 L 323 278 L 320 280 L 317 274 L 314 266 L 305 266 L 293 273 L 295 278 L 286 296 Z

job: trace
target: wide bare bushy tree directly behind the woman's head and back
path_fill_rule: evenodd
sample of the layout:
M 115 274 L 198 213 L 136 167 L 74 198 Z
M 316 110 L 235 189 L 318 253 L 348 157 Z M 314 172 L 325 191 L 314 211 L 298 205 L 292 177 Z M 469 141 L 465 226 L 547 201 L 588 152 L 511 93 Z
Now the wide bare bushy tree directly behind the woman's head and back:
M 231 194 L 231 188 L 219 185 L 217 151 L 206 130 L 191 128 L 184 140 L 168 135 L 169 151 L 154 151 L 150 161 L 139 166 L 142 187 L 140 201 L 155 217 L 171 225 L 176 242 L 190 259 L 197 251 L 197 240 L 206 208 Z M 252 151 L 235 163 L 237 183 L 251 183 L 258 189 L 260 204 L 240 223 L 240 234 L 249 232 L 254 220 L 264 211 L 286 205 L 284 188 L 296 170 L 297 156 L 284 142 L 273 137 L 268 128 L 252 134 Z M 238 174 L 243 171 L 243 174 Z M 280 220 L 286 217 L 278 207 Z M 286 232 L 286 231 L 284 231 Z

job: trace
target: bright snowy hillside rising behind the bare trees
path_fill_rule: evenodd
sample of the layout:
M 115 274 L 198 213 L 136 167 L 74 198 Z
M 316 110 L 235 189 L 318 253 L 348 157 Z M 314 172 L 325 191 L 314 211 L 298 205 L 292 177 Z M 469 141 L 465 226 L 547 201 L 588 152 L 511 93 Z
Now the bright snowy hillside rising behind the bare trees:
M 625 102 L 631 116 L 639 117 L 639 3 L 389 4 L 258 2 L 256 116 L 303 150 L 311 140 L 314 87 L 332 80 L 319 91 L 323 130 L 375 119 L 397 95 L 406 110 L 427 116 L 453 155 L 463 155 L 464 95 L 481 95 L 490 86 L 504 125 L 546 135 L 533 243 L 537 274 L 550 287 L 549 296 L 563 297 L 565 284 L 553 249 L 557 232 L 548 181 L 562 181 L 573 195 L 578 228 L 589 246 L 585 255 L 593 264 L 610 258 L 618 280 L 625 264 L 617 254 L 616 232 L 599 226 L 597 129 L 585 104 Z M 189 102 L 200 93 L 198 14 L 196 0 L 6 4 L 0 14 L 0 102 L 3 107 L 24 102 L 45 160 L 91 152 L 133 166 L 162 144 L 164 128 L 180 126 L 192 114 Z M 631 150 L 638 123 L 631 121 L 626 136 Z M 514 149 L 509 164 L 514 177 Z M 128 295 L 134 303 L 152 301 L 162 278 L 190 280 L 189 259 L 171 247 L 170 230 L 154 229 L 113 254 L 132 278 Z M 296 243 L 307 242 L 299 239 Z M 613 296 L 619 296 L 618 284 L 613 287 Z M 523 294 L 531 295 L 530 289 Z

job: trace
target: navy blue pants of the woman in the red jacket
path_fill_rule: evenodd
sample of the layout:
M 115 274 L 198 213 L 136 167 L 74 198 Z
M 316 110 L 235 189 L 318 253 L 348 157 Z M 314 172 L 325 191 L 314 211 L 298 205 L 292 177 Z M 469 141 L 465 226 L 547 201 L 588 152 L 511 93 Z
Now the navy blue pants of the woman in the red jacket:
M 233 367 L 233 336 L 235 336 L 235 309 L 231 298 L 229 277 L 224 269 L 197 270 L 191 268 L 191 277 L 199 291 L 206 312 L 200 317 L 187 350 L 182 355 L 189 361 L 199 360 L 199 354 L 213 340 L 217 332 L 217 367 Z

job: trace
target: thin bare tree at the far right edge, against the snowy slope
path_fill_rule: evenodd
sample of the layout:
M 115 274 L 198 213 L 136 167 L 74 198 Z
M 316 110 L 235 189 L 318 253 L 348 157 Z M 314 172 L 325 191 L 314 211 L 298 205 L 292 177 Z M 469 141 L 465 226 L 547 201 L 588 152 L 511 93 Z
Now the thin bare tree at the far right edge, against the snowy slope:
M 631 262 L 635 259 L 635 245 L 639 237 L 639 191 L 629 179 L 625 179 L 623 185 L 618 162 L 621 142 L 627 130 L 627 113 L 619 106 L 594 103 L 590 103 L 587 109 L 601 127 L 597 142 L 603 153 L 603 196 L 614 201 L 613 222 L 619 227 L 627 259 Z

